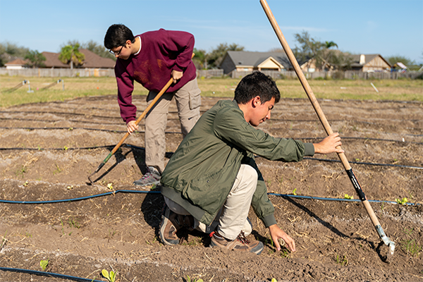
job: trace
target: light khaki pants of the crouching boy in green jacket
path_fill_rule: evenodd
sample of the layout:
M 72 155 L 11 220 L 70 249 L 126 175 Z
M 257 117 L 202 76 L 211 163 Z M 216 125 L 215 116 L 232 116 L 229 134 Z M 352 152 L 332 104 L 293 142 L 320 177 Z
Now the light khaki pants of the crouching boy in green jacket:
M 252 232 L 252 225 L 247 218 L 250 211 L 252 195 L 257 188 L 257 171 L 247 164 L 241 164 L 235 183 L 233 183 L 231 192 L 226 199 L 225 204 L 219 211 L 210 226 L 195 219 L 194 227 L 204 233 L 210 233 L 215 230 L 224 238 L 235 240 L 240 231 L 245 235 Z M 204 195 L 207 197 L 207 195 Z M 164 197 L 169 209 L 176 214 L 189 214 L 186 209 L 176 202 Z

